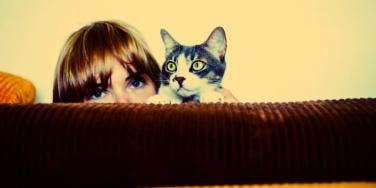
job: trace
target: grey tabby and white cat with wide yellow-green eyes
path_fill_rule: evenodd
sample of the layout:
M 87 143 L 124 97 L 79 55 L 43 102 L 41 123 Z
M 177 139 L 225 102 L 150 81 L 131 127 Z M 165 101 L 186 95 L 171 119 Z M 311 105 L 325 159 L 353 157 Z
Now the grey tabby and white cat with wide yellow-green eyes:
M 160 75 L 161 86 L 148 103 L 223 102 L 219 92 L 226 69 L 227 41 L 224 29 L 215 28 L 199 45 L 184 46 L 164 29 L 161 37 L 166 59 Z

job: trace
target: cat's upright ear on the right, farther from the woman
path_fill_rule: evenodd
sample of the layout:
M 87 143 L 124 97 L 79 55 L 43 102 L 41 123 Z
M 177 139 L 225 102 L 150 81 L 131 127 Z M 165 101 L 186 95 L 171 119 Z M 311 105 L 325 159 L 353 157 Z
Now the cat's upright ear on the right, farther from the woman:
M 227 41 L 225 30 L 222 27 L 215 28 L 205 41 L 206 49 L 218 57 L 224 57 L 226 54 Z

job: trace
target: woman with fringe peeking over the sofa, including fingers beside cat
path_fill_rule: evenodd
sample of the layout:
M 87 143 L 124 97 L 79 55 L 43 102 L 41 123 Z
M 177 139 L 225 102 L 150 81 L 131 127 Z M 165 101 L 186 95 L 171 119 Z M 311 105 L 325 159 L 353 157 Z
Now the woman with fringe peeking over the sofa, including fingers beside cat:
M 53 102 L 145 103 L 156 94 L 160 69 L 140 33 L 98 21 L 74 32 L 60 52 Z M 237 100 L 222 91 L 226 102 Z

